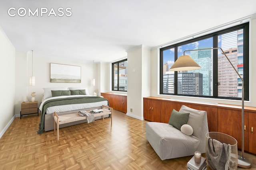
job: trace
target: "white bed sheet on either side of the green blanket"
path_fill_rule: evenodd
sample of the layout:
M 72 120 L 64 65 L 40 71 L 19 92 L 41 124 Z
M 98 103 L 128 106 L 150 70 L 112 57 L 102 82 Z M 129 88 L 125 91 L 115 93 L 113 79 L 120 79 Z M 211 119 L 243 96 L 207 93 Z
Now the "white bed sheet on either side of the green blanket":
M 80 97 L 80 96 L 91 96 L 91 95 L 70 95 L 70 96 L 57 96 L 57 97 L 51 97 L 45 99 L 41 104 L 40 104 L 40 111 L 42 111 L 42 106 L 44 102 L 52 99 L 57 99 L 57 98 L 71 98 L 71 97 Z M 94 102 L 94 103 L 83 103 L 83 104 L 67 104 L 67 105 L 61 105 L 61 106 L 51 106 L 46 109 L 46 114 L 51 114 L 56 111 L 56 113 L 64 112 L 64 111 L 72 111 L 72 110 L 79 110 L 79 109 L 87 109 L 87 108 L 92 108 L 92 107 L 100 107 L 102 105 L 108 105 L 108 101 L 101 101 L 101 102 Z

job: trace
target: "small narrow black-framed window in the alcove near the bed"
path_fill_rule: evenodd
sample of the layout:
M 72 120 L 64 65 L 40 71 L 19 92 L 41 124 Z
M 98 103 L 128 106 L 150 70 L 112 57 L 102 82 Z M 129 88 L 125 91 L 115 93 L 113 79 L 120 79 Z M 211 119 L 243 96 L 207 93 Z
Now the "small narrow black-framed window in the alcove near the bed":
M 127 59 L 112 63 L 112 90 L 127 92 Z

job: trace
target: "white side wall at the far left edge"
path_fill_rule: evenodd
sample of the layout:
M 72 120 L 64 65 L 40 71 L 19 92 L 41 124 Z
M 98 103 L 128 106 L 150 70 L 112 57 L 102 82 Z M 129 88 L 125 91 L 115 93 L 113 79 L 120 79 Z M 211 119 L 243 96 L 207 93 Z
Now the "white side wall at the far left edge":
M 15 48 L 0 27 L 0 138 L 14 119 Z

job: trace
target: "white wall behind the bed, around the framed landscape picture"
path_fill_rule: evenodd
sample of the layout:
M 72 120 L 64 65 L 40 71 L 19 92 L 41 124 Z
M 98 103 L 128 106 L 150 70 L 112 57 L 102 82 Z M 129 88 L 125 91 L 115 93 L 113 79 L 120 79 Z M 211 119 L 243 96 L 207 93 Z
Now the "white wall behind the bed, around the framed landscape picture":
M 50 56 L 50 55 L 49 55 Z M 54 57 L 42 57 L 33 55 L 33 76 L 36 77 L 36 86 L 29 86 L 28 77 L 32 75 L 32 55 L 22 52 L 16 52 L 16 95 L 15 95 L 15 114 L 20 114 L 20 103 L 28 96 L 28 101 L 31 101 L 31 93 L 36 92 L 36 100 L 38 105 L 41 102 L 43 88 L 46 87 L 87 87 L 92 95 L 95 87 L 92 86 L 93 78 L 93 62 L 82 62 L 63 60 Z M 50 82 L 50 63 L 69 64 L 81 66 L 81 83 L 52 83 Z M 97 76 L 97 67 L 95 66 L 94 74 Z

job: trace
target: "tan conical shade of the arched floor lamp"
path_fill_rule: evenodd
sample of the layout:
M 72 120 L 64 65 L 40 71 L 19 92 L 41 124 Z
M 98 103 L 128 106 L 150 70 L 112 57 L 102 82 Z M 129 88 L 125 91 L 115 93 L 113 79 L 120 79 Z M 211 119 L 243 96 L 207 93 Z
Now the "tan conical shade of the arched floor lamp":
M 188 71 L 188 70 L 197 70 L 201 67 L 189 56 L 182 55 L 180 56 L 172 67 L 169 69 L 170 71 Z

